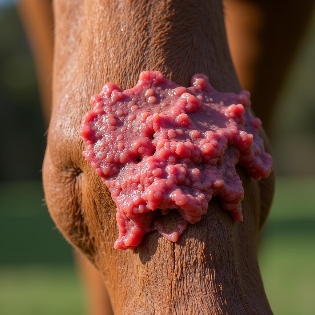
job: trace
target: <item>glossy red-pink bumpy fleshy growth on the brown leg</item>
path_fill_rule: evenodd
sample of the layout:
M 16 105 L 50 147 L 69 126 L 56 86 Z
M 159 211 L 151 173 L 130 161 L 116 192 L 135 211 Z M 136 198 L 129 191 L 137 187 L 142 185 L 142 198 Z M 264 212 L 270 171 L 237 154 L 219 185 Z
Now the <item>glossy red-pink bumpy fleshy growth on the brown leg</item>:
M 213 196 L 235 221 L 243 220 L 235 165 L 256 180 L 272 170 L 249 97 L 248 91 L 217 92 L 204 74 L 185 88 L 158 71 L 141 72 L 132 89 L 107 83 L 92 96 L 80 129 L 83 155 L 117 205 L 115 248 L 134 249 L 152 230 L 176 242 Z M 167 233 L 156 209 L 177 209 L 183 220 Z

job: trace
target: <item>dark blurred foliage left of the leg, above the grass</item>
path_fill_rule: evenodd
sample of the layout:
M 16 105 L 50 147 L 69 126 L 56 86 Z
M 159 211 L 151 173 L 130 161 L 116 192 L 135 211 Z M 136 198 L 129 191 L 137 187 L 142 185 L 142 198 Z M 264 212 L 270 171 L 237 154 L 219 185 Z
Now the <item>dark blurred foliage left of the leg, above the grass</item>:
M 6 135 L 0 137 L 0 180 L 39 179 L 45 128 L 33 60 L 14 7 L 0 8 L 0 38 L 1 129 Z

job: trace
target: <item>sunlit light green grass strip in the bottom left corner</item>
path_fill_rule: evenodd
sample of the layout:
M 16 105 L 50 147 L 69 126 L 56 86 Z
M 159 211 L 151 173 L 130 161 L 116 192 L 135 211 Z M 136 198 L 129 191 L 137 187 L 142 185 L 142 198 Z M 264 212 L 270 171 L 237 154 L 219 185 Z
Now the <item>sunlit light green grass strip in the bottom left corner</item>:
M 0 268 L 1 315 L 80 315 L 83 292 L 69 267 Z

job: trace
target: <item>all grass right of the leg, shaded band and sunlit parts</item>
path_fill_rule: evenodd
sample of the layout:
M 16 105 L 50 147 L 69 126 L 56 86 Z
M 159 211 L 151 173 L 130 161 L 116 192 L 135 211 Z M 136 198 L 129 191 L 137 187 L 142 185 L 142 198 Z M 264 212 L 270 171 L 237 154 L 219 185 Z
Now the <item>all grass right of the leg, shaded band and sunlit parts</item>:
M 313 315 L 315 178 L 277 178 L 259 264 L 275 315 Z

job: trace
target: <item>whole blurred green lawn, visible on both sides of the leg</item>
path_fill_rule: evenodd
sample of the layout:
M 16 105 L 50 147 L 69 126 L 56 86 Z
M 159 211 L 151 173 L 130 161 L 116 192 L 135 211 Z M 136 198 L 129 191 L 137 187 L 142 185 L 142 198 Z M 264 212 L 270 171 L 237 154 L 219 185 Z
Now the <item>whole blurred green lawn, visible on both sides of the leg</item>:
M 314 314 L 315 178 L 278 178 L 259 263 L 275 315 Z M 40 182 L 0 184 L 0 314 L 83 314 L 72 249 L 43 206 Z

